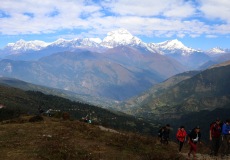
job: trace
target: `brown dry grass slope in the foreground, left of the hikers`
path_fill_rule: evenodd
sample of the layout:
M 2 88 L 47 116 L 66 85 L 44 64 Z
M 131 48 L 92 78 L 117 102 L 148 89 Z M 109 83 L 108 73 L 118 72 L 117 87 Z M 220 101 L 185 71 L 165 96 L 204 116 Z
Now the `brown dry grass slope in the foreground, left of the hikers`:
M 153 137 L 112 133 L 79 121 L 24 116 L 0 125 L 4 160 L 157 160 L 182 159 L 176 144 L 162 146 Z

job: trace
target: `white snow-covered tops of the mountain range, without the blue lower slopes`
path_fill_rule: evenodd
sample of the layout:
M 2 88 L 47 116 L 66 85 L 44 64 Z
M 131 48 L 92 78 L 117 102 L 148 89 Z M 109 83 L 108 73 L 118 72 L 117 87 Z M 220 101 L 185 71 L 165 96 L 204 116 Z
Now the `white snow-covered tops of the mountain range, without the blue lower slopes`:
M 39 40 L 34 41 L 24 41 L 19 40 L 15 43 L 9 43 L 6 47 L 0 50 L 0 57 L 1 53 L 7 52 L 7 55 L 11 54 L 18 54 L 22 52 L 29 52 L 29 51 L 39 51 L 43 50 L 47 47 L 62 47 L 62 48 L 69 48 L 69 49 L 76 49 L 76 48 L 114 48 L 117 46 L 136 46 L 145 48 L 152 52 L 158 52 L 159 54 L 175 54 L 180 53 L 183 56 L 191 55 L 195 52 L 203 52 L 207 55 L 220 55 L 225 54 L 227 49 L 221 48 L 213 48 L 209 51 L 201 51 L 195 50 L 193 48 L 185 46 L 181 41 L 174 39 L 168 40 L 161 43 L 145 43 L 138 37 L 133 36 L 129 31 L 126 29 L 118 29 L 115 31 L 111 31 L 107 34 L 107 36 L 101 40 L 100 38 L 77 38 L 72 40 L 66 39 L 58 39 L 54 42 L 47 43 Z M 4 54 L 5 55 L 5 54 Z

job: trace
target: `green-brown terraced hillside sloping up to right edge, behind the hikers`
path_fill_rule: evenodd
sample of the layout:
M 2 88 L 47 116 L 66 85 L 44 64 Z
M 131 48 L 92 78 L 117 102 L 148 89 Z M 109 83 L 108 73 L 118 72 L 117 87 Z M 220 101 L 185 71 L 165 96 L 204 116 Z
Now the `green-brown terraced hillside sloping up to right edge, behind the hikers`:
M 176 75 L 175 78 L 179 76 Z M 229 108 L 229 79 L 230 61 L 227 61 L 197 72 L 191 77 L 178 79 L 176 83 L 167 85 L 165 81 L 158 84 L 149 92 L 136 98 L 141 100 L 136 104 L 137 106 L 129 107 L 133 104 L 130 101 L 125 107 L 130 114 L 155 119 L 179 118 L 192 112 Z

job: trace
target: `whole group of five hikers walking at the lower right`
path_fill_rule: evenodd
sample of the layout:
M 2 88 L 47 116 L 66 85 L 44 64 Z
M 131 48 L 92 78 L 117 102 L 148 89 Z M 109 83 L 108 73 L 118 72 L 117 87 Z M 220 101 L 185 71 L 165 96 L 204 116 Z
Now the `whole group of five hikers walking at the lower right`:
M 167 124 L 164 127 L 161 127 L 158 131 L 161 144 L 168 144 L 170 129 L 170 125 Z M 188 157 L 190 157 L 192 154 L 193 157 L 196 158 L 197 143 L 201 143 L 201 132 L 199 126 L 196 126 L 189 132 L 186 132 L 184 126 L 180 126 L 176 132 L 176 139 L 179 144 L 179 152 L 181 152 L 184 143 L 187 141 L 187 143 L 190 145 Z M 230 119 L 227 119 L 224 123 L 221 123 L 221 120 L 217 118 L 214 122 L 212 122 L 209 128 L 209 140 L 211 142 L 211 156 L 218 156 L 218 152 L 220 152 L 222 158 L 224 156 L 229 156 Z

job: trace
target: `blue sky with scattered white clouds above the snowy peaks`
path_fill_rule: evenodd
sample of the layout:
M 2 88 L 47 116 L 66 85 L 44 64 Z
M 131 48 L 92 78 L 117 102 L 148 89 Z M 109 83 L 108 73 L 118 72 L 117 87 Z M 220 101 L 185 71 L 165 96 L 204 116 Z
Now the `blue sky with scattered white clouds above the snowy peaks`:
M 146 43 L 230 48 L 229 0 L 0 0 L 0 48 L 20 39 L 103 39 L 125 28 Z

